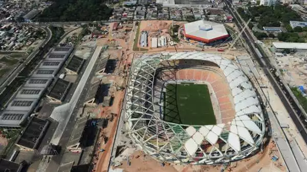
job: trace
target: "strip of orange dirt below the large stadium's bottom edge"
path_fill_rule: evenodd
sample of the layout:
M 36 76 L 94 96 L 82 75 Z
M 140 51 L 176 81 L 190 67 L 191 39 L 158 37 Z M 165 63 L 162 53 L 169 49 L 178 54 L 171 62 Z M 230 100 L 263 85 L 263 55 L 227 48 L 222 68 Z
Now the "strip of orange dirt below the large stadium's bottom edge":
M 286 171 L 285 167 L 281 164 L 282 160 L 279 158 L 276 162 L 271 160 L 271 157 L 275 155 L 280 157 L 274 142 L 270 142 L 265 151 L 258 153 L 257 155 L 244 159 L 241 161 L 233 162 L 230 166 L 232 168 L 226 168 L 225 171 L 235 172 L 257 172 L 261 169 L 261 172 L 281 172 Z M 138 157 L 139 156 L 139 157 Z M 114 168 L 114 167 L 113 167 Z M 122 165 L 116 168 L 121 168 L 124 172 L 220 172 L 222 165 L 180 165 L 166 164 L 164 167 L 155 159 L 150 156 L 144 156 L 142 152 L 137 151 L 130 156 L 130 166 L 127 165 L 127 161 L 122 161 Z

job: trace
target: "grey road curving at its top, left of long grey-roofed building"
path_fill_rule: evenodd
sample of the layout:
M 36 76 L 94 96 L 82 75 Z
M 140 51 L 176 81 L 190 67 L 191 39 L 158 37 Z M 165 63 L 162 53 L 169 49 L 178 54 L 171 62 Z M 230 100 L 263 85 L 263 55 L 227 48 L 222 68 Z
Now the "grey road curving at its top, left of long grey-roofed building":
M 33 26 L 39 29 L 44 30 L 47 33 L 47 38 L 36 48 L 35 51 L 33 51 L 28 58 L 21 63 L 18 67 L 16 67 L 13 71 L 12 74 L 1 84 L 0 90 L 5 90 L 6 86 L 8 86 L 14 79 L 15 77 L 19 74 L 20 71 L 22 71 L 25 66 L 37 55 L 38 52 L 40 52 L 42 49 L 40 47 L 43 47 L 47 44 L 47 42 L 50 41 L 52 37 L 52 32 L 49 28 L 42 28 L 40 26 Z

